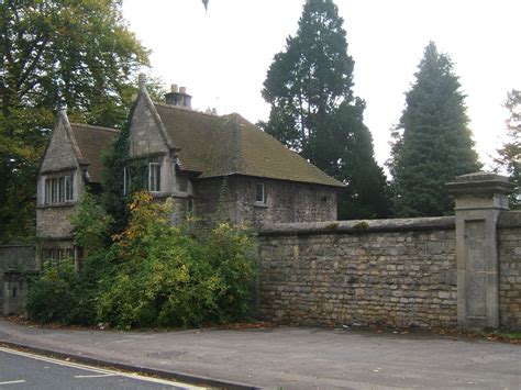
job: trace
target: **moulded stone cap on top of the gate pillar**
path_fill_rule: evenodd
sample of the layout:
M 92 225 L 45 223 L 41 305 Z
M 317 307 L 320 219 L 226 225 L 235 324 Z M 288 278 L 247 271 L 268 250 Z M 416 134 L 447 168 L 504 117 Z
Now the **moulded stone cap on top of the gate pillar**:
M 455 181 L 447 182 L 445 188 L 451 194 L 492 194 L 511 193 L 516 186 L 506 176 L 479 171 L 458 176 Z

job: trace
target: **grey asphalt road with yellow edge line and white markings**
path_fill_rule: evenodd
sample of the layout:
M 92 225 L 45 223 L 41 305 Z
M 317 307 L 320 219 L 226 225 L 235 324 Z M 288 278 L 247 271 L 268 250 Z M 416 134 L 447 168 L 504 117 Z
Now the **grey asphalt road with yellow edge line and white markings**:
M 0 347 L 0 389 L 201 389 Z

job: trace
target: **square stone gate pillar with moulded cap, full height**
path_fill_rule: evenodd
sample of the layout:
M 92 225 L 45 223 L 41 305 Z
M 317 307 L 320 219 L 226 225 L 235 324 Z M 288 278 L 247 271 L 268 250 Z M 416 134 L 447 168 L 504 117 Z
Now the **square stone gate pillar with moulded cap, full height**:
M 488 172 L 458 176 L 446 185 L 456 201 L 457 322 L 499 325 L 497 221 L 513 186 Z

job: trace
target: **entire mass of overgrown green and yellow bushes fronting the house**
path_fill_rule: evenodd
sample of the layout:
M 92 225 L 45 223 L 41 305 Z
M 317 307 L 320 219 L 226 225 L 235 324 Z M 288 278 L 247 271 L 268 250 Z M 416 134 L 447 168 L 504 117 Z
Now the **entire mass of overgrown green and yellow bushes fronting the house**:
M 173 226 L 171 205 L 136 193 L 129 225 L 108 246 L 110 218 L 92 197 L 82 199 L 73 221 L 88 256 L 79 271 L 69 261 L 43 272 L 30 291 L 30 317 L 122 328 L 246 317 L 254 279 L 248 231 L 223 222 Z

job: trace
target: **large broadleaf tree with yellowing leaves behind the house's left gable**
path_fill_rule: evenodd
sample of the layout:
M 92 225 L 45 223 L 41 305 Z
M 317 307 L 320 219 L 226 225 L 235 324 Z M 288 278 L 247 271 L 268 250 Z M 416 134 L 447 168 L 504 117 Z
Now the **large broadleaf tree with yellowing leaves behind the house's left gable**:
M 73 121 L 115 126 L 147 51 L 121 1 L 0 2 L 0 239 L 34 224 L 37 163 L 58 105 Z

